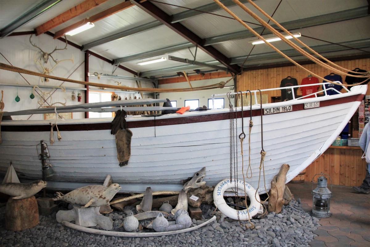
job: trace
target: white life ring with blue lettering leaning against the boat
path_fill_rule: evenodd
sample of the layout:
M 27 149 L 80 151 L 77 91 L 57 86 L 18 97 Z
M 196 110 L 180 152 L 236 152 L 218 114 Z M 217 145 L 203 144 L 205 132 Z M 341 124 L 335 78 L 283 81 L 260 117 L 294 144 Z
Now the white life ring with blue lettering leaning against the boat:
M 236 180 L 237 186 L 239 189 L 244 190 L 244 182 L 241 180 Z M 215 203 L 216 207 L 227 217 L 232 218 L 233 220 L 238 220 L 238 212 L 239 212 L 239 219 L 240 220 L 249 220 L 249 217 L 255 216 L 260 209 L 261 204 L 259 203 L 260 198 L 259 194 L 256 194 L 256 190 L 250 186 L 250 184 L 245 184 L 245 193 L 248 195 L 250 200 L 250 205 L 248 207 L 249 216 L 247 209 L 244 210 L 235 210 L 226 204 L 225 199 L 223 198 L 223 193 L 228 188 L 235 187 L 235 180 L 232 180 L 230 183 L 230 179 L 224 179 L 219 182 L 215 189 L 213 190 L 213 202 Z M 256 196 L 255 196 L 256 194 Z

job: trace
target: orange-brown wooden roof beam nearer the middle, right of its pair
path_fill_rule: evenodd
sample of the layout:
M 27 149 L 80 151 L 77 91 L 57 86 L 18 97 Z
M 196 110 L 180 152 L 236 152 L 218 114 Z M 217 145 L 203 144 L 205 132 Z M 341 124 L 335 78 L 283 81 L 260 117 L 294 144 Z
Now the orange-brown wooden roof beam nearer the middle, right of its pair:
M 103 10 L 97 14 L 94 14 L 93 16 L 90 16 L 89 19 L 84 19 L 82 21 L 77 21 L 76 23 L 65 27 L 64 29 L 61 29 L 59 31 L 56 31 L 54 34 L 54 39 L 58 39 L 59 37 L 63 36 L 65 33 L 76 29 L 77 27 L 83 26 L 88 22 L 94 23 L 95 21 L 104 19 L 105 17 L 111 16 L 112 14 L 118 13 L 122 10 L 125 10 L 131 6 L 134 6 L 130 1 L 124 1 L 122 3 L 119 3 L 113 7 L 110 7 L 106 10 Z

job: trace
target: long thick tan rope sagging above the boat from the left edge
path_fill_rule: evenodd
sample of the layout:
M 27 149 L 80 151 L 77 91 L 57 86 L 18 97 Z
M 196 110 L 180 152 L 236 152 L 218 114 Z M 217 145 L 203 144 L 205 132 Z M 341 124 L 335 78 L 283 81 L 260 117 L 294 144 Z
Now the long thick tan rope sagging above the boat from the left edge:
M 62 77 L 57 77 L 57 76 L 41 74 L 41 73 L 31 71 L 31 70 L 25 70 L 25 69 L 21 69 L 19 67 L 11 66 L 8 64 L 4 64 L 4 63 L 0 63 L 0 69 L 18 72 L 22 74 L 29 74 L 32 76 L 46 77 L 46 78 L 58 80 L 58 81 L 67 81 L 71 83 L 94 86 L 94 87 L 104 87 L 104 88 L 109 88 L 109 89 L 131 90 L 131 91 L 139 91 L 139 92 L 166 93 L 166 92 L 188 92 L 188 91 L 198 91 L 198 90 L 206 90 L 206 89 L 222 89 L 226 84 L 224 81 L 221 81 L 220 83 L 215 83 L 215 84 L 200 86 L 200 87 L 192 87 L 192 88 L 179 88 L 179 89 L 137 88 L 137 87 L 115 86 L 115 85 L 94 83 L 94 82 L 88 82 L 88 81 L 72 80 L 72 79 L 67 79 L 67 78 L 62 78 Z

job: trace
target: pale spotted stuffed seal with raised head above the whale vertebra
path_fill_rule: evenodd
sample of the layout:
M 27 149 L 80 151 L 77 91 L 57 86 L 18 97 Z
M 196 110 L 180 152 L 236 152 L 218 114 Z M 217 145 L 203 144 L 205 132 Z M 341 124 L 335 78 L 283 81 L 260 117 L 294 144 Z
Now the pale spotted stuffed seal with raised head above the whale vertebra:
M 66 201 L 72 204 L 84 205 L 85 207 L 100 207 L 109 205 L 110 200 L 120 191 L 119 184 L 111 184 L 108 187 L 102 185 L 89 185 L 77 188 L 65 195 L 57 192 L 57 197 L 53 198 L 54 201 Z

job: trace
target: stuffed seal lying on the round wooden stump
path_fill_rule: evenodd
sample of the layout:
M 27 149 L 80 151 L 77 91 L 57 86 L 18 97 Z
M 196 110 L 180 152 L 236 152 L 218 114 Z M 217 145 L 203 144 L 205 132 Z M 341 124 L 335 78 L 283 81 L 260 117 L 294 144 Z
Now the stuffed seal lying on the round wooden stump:
M 41 189 L 45 188 L 47 183 L 43 180 L 33 181 L 28 184 L 23 183 L 6 183 L 0 185 L 0 192 L 9 196 L 14 196 L 13 199 L 23 199 L 33 196 Z

